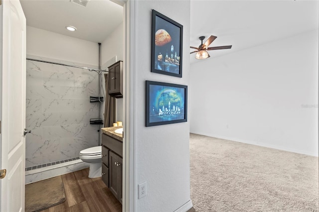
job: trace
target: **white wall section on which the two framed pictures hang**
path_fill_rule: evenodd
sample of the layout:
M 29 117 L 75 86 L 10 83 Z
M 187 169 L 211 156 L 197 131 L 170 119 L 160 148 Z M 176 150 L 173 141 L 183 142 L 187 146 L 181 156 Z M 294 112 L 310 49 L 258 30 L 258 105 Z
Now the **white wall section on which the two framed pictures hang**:
M 151 73 L 151 9 L 184 27 L 182 78 Z M 147 182 L 147 196 L 136 200 L 137 212 L 172 212 L 190 203 L 189 121 L 145 127 L 146 80 L 189 85 L 189 13 L 190 1 L 136 1 L 137 49 L 135 69 L 130 70 L 136 77 L 135 137 L 131 141 L 135 143 L 136 191 L 138 184 Z

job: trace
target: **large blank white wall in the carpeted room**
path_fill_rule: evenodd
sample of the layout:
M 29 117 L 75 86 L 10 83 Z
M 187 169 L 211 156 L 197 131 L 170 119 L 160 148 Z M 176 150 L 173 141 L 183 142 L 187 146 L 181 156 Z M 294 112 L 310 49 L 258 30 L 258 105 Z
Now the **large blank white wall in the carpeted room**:
M 318 29 L 191 65 L 190 131 L 318 156 Z

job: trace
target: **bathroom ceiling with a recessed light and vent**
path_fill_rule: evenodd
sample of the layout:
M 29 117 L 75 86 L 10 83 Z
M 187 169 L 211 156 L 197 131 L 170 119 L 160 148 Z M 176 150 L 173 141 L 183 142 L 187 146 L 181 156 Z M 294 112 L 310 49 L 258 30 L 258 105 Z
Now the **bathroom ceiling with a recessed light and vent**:
M 104 41 L 123 22 L 123 7 L 110 0 L 87 0 L 85 7 L 73 0 L 20 2 L 26 25 L 97 43 Z M 68 25 L 77 30 L 68 31 L 65 28 Z

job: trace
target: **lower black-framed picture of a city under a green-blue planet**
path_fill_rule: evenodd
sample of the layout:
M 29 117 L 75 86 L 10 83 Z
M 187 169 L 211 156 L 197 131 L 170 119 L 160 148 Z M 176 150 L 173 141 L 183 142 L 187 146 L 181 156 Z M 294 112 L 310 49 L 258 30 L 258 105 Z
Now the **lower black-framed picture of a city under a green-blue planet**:
M 146 81 L 146 126 L 187 121 L 187 86 Z

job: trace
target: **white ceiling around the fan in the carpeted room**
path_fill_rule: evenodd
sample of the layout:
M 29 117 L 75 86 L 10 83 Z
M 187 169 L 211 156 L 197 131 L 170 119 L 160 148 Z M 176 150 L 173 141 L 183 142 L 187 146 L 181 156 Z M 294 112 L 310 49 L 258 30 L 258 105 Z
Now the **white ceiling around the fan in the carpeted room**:
M 191 46 L 199 46 L 199 36 L 206 36 L 206 41 L 210 35 L 217 36 L 210 47 L 233 45 L 231 49 L 208 51 L 207 60 L 319 26 L 319 1 L 191 0 L 190 8 Z M 190 62 L 200 62 L 195 53 Z

